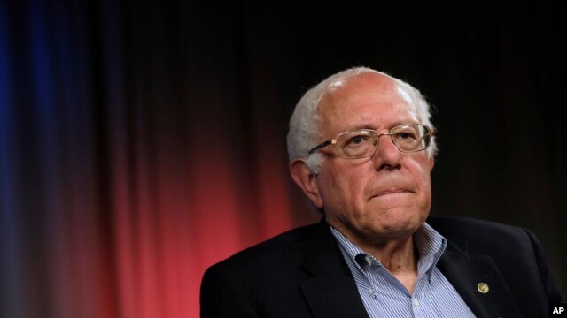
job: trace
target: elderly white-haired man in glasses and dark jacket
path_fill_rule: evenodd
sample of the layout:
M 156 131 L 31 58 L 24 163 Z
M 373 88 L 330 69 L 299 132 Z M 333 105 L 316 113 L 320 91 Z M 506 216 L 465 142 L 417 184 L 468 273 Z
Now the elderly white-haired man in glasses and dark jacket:
M 368 68 L 310 89 L 288 150 L 291 178 L 322 222 L 207 269 L 201 316 L 547 316 L 561 296 L 531 232 L 428 219 L 430 120 L 415 88 Z

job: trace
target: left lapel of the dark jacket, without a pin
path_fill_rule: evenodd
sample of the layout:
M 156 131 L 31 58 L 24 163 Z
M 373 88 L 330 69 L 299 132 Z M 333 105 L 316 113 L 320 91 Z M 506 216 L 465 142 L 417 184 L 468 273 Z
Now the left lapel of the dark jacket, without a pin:
M 301 290 L 315 317 L 368 317 L 327 223 L 317 226 L 307 245 L 303 268 L 313 276 L 301 284 Z

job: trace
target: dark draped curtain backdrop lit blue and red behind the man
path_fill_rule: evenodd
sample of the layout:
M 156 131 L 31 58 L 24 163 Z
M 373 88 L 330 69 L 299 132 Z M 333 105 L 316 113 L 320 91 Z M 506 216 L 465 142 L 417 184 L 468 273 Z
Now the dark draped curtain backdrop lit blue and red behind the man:
M 431 213 L 535 232 L 567 296 L 559 5 L 0 1 L 0 315 L 197 317 L 207 266 L 318 219 L 288 118 L 354 65 L 435 107 Z

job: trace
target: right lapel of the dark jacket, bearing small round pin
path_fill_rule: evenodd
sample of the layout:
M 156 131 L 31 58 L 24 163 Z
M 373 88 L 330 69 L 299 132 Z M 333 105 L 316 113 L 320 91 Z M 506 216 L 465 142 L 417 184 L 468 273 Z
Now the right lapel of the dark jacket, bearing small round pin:
M 522 317 L 492 258 L 466 251 L 466 243 L 459 248 L 449 241 L 437 266 L 470 310 L 478 317 Z M 478 291 L 480 283 L 488 285 L 487 292 Z

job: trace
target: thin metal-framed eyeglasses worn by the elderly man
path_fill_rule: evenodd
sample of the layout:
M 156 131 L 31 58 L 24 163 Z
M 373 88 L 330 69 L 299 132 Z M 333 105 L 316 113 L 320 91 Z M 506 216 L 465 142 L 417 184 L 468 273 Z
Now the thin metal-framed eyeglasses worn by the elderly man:
M 392 143 L 401 152 L 416 152 L 431 146 L 431 137 L 437 133 L 435 128 L 422 124 L 404 124 L 390 129 L 390 133 L 378 133 L 372 129 L 358 129 L 352 132 L 339 133 L 333 140 L 327 140 L 311 148 L 307 155 L 333 145 L 337 155 L 346 159 L 364 158 L 374 154 L 378 139 L 388 135 Z

